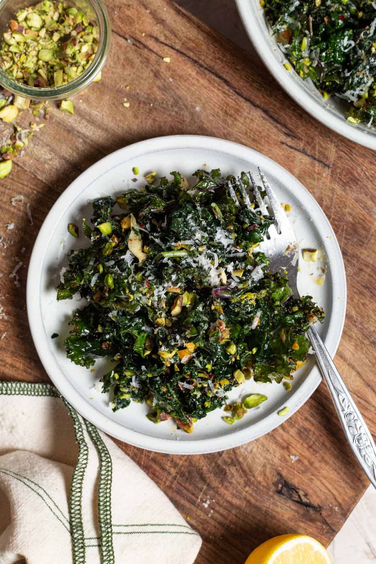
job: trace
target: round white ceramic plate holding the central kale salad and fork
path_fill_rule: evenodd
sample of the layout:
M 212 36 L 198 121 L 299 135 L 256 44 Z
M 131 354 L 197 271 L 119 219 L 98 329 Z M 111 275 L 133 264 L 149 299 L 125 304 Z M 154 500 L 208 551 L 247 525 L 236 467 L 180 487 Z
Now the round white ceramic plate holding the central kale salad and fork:
M 275 187 L 280 201 L 291 206 L 290 219 L 294 224 L 302 248 L 322 248 L 329 268 L 324 285 L 314 280 L 322 263 L 300 261 L 300 292 L 313 296 L 326 311 L 321 336 L 331 355 L 334 355 L 342 333 L 346 310 L 346 279 L 342 255 L 333 230 L 313 197 L 291 174 L 264 155 L 247 147 L 201 136 L 169 136 L 150 139 L 125 147 L 103 158 L 81 174 L 63 192 L 52 207 L 34 245 L 30 259 L 27 303 L 30 328 L 42 363 L 61 394 L 83 417 L 108 434 L 135 446 L 174 454 L 214 452 L 249 442 L 268 433 L 286 420 L 277 415 L 278 409 L 290 407 L 292 415 L 302 406 L 320 382 L 319 369 L 313 358 L 297 373 L 293 389 L 287 393 L 282 385 L 246 384 L 229 394 L 231 399 L 246 393 L 263 393 L 268 401 L 251 409 L 235 425 L 222 420 L 222 409 L 198 421 L 189 435 L 176 430 L 172 420 L 154 425 L 145 417 L 147 406 L 131 403 L 126 409 L 112 412 L 110 397 L 94 389 L 104 373 L 105 360 L 95 364 L 95 372 L 78 367 L 65 356 L 63 340 L 68 335 L 67 320 L 76 307 L 86 300 L 56 301 L 59 271 L 67 265 L 66 253 L 89 245 L 83 236 L 78 240 L 69 235 L 67 224 L 81 224 L 81 217 L 91 217 L 90 201 L 103 195 L 116 195 L 127 188 L 141 188 L 143 176 L 153 170 L 169 175 L 178 170 L 190 177 L 198 168 L 219 168 L 223 175 L 238 174 L 242 170 L 256 171 L 260 166 Z M 140 169 L 137 183 L 131 182 L 132 167 Z M 82 230 L 81 230 L 82 231 Z M 311 266 L 311 268 L 309 268 Z M 52 333 L 59 337 L 51 339 Z

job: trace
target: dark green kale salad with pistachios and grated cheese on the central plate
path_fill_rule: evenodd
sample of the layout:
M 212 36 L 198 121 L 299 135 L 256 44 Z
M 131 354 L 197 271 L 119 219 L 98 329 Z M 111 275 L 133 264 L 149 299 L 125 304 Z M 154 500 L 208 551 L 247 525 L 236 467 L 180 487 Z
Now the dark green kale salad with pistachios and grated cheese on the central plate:
M 247 379 L 292 380 L 307 358 L 309 323 L 324 312 L 268 271 L 257 247 L 273 218 L 251 192 L 253 209 L 236 204 L 229 182 L 243 201 L 235 177 L 197 170 L 189 186 L 171 175 L 155 182 L 153 173 L 141 191 L 94 200 L 92 226 L 69 224 L 90 245 L 69 253 L 57 299 L 79 293 L 89 302 L 70 319 L 64 346 L 82 367 L 100 357 L 117 363 L 100 378 L 113 411 L 146 402 L 151 421 L 174 417 L 191 433 Z M 248 186 L 247 175 L 241 179 Z

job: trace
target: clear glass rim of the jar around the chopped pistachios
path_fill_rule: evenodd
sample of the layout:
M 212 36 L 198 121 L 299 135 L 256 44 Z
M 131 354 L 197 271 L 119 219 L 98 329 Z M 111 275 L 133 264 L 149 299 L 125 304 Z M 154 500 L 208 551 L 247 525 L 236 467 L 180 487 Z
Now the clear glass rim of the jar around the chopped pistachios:
M 72 81 L 61 86 L 51 86 L 47 88 L 37 88 L 28 86 L 10 77 L 0 69 L 0 86 L 22 98 L 32 100 L 61 100 L 69 98 L 85 89 L 94 80 L 102 69 L 108 55 L 111 42 L 111 24 L 107 8 L 101 0 L 87 0 L 95 12 L 99 27 L 99 45 L 95 57 L 82 74 Z M 0 2 L 1 7 L 1 2 Z

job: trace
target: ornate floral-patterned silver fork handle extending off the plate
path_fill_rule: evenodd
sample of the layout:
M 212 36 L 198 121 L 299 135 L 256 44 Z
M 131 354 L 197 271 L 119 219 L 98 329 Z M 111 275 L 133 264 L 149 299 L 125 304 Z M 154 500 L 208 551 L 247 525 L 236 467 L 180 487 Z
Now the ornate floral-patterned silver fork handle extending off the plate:
M 320 372 L 328 384 L 347 440 L 371 484 L 376 488 L 376 447 L 372 435 L 313 325 L 309 327 L 307 334 L 316 352 Z

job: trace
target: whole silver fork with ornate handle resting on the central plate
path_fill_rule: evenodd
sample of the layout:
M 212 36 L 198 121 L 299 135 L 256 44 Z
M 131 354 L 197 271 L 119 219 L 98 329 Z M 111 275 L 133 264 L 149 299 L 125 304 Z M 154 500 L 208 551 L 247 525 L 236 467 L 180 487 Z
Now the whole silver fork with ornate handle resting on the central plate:
M 268 229 L 270 239 L 265 239 L 260 247 L 270 259 L 269 270 L 271 272 L 282 272 L 285 276 L 288 276 L 289 286 L 293 290 L 294 297 L 299 298 L 297 286 L 299 249 L 297 239 L 275 192 L 265 178 L 263 171 L 260 168 L 258 170 L 272 213 L 268 213 L 253 175 L 249 173 L 255 199 L 262 214 L 275 217 L 275 225 Z M 235 196 L 238 205 L 240 205 L 232 186 L 231 188 L 233 192 L 230 190 L 231 196 Z M 244 205 L 248 208 L 250 200 L 248 196 L 248 199 L 245 198 L 244 184 L 240 183 L 240 188 Z M 315 350 L 317 364 L 319 364 L 320 372 L 325 378 L 326 384 L 328 384 L 347 440 L 371 484 L 376 488 L 376 447 L 372 435 L 313 325 L 309 326 L 307 336 L 311 341 L 313 350 Z

